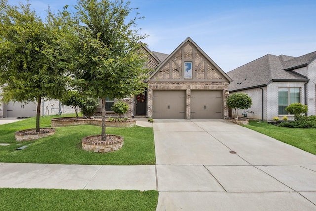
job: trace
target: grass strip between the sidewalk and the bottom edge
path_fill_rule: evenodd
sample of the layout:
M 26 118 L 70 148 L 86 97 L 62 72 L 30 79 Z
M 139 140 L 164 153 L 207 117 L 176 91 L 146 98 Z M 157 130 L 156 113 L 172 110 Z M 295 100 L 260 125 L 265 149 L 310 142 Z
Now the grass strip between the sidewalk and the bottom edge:
M 0 188 L 1 211 L 155 211 L 158 191 Z

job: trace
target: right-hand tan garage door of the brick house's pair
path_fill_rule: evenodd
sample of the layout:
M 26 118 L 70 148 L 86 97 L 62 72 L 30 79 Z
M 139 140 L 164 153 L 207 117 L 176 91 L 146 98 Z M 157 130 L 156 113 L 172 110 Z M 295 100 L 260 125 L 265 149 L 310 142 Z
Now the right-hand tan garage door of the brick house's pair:
M 191 119 L 222 119 L 223 91 L 191 91 Z

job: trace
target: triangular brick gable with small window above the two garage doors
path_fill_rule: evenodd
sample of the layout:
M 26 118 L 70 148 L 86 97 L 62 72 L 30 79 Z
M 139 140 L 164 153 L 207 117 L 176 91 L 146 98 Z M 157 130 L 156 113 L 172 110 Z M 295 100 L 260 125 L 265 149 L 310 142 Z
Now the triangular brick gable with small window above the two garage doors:
M 183 80 L 184 62 L 193 63 L 192 80 L 231 81 L 229 76 L 189 37 L 159 64 L 147 81 L 152 78 Z

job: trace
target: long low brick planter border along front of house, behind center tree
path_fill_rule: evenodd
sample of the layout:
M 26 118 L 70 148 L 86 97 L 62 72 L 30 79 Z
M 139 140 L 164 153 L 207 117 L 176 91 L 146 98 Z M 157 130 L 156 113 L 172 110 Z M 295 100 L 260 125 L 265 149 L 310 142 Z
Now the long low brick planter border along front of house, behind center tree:
M 133 127 L 136 125 L 136 120 L 106 120 L 107 127 Z M 102 126 L 101 119 L 83 119 L 76 117 L 60 117 L 51 119 L 51 127 L 75 126 L 75 125 L 94 125 Z

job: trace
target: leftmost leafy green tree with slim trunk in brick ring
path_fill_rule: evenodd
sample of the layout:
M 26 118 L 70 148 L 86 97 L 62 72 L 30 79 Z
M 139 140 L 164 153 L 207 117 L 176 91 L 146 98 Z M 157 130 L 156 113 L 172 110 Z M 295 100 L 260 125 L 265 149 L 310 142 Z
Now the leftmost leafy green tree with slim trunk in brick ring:
M 10 6 L 0 3 L 0 86 L 3 101 L 37 102 L 36 131 L 40 131 L 40 105 L 43 98 L 59 98 L 64 93 L 63 16 L 43 22 L 30 4 Z M 49 13 L 52 17 L 52 14 Z M 56 42 L 58 41 L 58 42 Z M 50 53 L 53 56 L 49 56 Z M 52 59 L 54 57 L 54 60 Z

